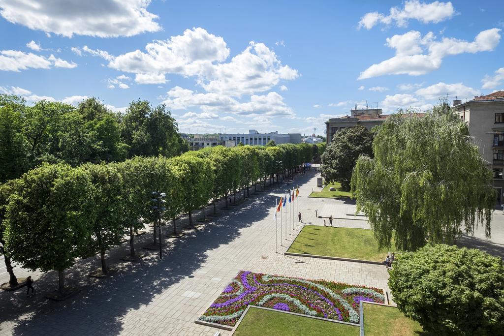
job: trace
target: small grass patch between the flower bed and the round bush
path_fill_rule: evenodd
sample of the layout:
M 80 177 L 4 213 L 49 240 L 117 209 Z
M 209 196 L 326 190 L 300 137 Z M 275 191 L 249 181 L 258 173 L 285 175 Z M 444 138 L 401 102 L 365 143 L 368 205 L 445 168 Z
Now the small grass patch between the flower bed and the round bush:
M 366 336 L 421 335 L 423 329 L 403 315 L 396 307 L 364 303 L 364 334 Z

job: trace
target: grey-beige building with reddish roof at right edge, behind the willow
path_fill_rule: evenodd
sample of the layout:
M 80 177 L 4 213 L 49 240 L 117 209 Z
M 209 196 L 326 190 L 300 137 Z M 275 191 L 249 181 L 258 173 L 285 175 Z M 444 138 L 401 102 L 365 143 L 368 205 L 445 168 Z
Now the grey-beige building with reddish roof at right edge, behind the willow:
M 475 96 L 462 103 L 453 101 L 453 109 L 468 123 L 469 135 L 478 145 L 479 152 L 488 168 L 493 172 L 493 187 L 496 203 L 504 204 L 504 91 L 486 96 Z

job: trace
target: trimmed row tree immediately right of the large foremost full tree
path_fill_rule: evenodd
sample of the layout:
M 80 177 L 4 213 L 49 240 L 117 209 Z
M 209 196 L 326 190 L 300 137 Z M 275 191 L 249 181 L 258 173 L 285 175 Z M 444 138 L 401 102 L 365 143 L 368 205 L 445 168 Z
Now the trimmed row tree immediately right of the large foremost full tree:
M 112 164 L 85 164 L 78 169 L 82 169 L 91 182 L 88 198 L 91 210 L 87 213 L 91 235 L 84 256 L 100 252 L 101 270 L 107 274 L 105 252 L 118 245 L 124 236 L 121 175 L 117 166 Z

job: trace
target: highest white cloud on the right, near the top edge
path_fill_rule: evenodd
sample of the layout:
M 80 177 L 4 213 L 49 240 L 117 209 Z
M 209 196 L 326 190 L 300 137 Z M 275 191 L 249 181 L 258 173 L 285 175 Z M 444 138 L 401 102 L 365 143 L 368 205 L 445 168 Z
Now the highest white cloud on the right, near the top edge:
M 418 20 L 422 23 L 438 23 L 450 19 L 455 15 L 455 10 L 451 2 L 442 3 L 434 1 L 430 4 L 421 3 L 418 0 L 410 0 L 404 3 L 404 8 L 393 7 L 389 15 L 378 12 L 365 14 L 359 21 L 358 28 L 371 29 L 375 25 L 382 23 L 390 25 L 395 23 L 398 27 L 406 27 L 408 21 Z

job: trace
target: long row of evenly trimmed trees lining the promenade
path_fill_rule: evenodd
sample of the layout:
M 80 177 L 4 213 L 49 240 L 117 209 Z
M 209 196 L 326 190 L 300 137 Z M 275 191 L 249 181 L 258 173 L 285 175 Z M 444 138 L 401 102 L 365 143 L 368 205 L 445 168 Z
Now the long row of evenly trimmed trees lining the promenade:
M 123 162 L 72 167 L 44 163 L 18 179 L 0 185 L 0 237 L 10 283 L 17 279 L 11 259 L 30 270 L 59 275 L 64 289 L 64 270 L 77 257 L 100 253 L 102 272 L 108 268 L 105 251 L 130 236 L 135 258 L 134 232 L 156 222 L 151 209 L 152 191 L 166 193 L 162 221 L 173 221 L 220 197 L 238 190 L 243 198 L 258 181 L 288 177 L 302 163 L 322 152 L 324 145 L 214 147 L 166 158 L 134 157 Z M 153 236 L 156 241 L 156 230 Z

